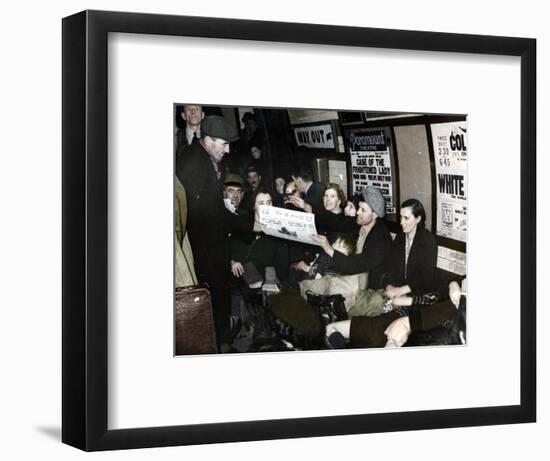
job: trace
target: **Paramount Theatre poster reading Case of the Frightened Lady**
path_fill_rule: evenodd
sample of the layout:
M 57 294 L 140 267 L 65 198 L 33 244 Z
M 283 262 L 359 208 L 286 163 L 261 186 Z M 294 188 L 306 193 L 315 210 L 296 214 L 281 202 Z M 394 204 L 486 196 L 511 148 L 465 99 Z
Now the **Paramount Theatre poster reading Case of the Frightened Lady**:
M 384 130 L 351 133 L 349 141 L 353 193 L 366 186 L 377 187 L 386 199 L 386 212 L 395 213 L 390 151 Z

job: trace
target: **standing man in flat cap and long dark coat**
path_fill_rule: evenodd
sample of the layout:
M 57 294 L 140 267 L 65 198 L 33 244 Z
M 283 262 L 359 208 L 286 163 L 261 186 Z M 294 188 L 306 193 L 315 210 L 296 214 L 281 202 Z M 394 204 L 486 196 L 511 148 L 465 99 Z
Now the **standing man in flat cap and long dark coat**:
M 183 153 L 176 164 L 176 176 L 187 192 L 187 229 L 195 257 L 199 283 L 208 285 L 216 336 L 220 349 L 231 342 L 229 316 L 229 234 L 251 228 L 249 220 L 231 213 L 224 205 L 218 164 L 229 153 L 229 143 L 238 139 L 237 130 L 224 117 L 205 117 L 201 138 Z

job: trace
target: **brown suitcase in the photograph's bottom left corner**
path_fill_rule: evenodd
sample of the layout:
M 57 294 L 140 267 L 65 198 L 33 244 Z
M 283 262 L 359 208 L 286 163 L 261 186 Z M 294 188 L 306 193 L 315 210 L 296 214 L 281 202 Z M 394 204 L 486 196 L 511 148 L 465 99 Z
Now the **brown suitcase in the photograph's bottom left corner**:
M 176 288 L 176 355 L 216 352 L 210 292 L 206 288 Z

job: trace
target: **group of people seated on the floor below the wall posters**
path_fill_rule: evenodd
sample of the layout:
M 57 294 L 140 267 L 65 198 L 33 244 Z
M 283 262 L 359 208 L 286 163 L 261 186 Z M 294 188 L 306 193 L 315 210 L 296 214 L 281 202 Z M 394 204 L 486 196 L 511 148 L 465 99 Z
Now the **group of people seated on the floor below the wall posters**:
M 247 190 L 232 173 L 223 184 L 226 207 L 253 220 L 251 231 L 231 235 L 234 326 L 240 326 L 243 309 L 261 291 L 253 285 L 254 276 L 263 276 L 266 268 L 275 269 L 282 290 L 273 299 L 284 298 L 282 310 L 273 302 L 279 306 L 275 314 L 297 329 L 304 330 L 296 311 L 312 309 L 302 301 L 308 294 L 342 295 L 347 318 L 320 325 L 320 336 L 331 348 L 402 346 L 411 332 L 451 321 L 459 301 L 465 302 L 462 277 L 436 275 L 437 245 L 417 199 L 401 204 L 396 228 L 384 219 L 384 197 L 372 186 L 347 201 L 338 184 L 325 186 L 303 169 L 288 179 L 277 177 L 273 191 L 261 184 Z M 266 235 L 262 205 L 313 213 L 318 234 L 311 238 L 318 246 Z

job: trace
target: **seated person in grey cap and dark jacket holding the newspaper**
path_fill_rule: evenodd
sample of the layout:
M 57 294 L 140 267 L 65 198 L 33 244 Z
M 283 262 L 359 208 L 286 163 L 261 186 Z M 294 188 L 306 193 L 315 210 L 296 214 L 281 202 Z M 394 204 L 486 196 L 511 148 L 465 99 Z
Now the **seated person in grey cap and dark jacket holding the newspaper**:
M 348 212 L 346 210 L 346 213 Z M 330 256 L 329 269 L 349 275 L 368 272 L 369 288 L 383 288 L 380 279 L 392 241 L 388 226 L 382 219 L 385 214 L 386 202 L 382 192 L 376 187 L 367 186 L 361 191 L 361 200 L 356 212 L 356 223 L 360 228 L 355 254 L 346 256 L 332 248 L 324 235 L 314 236 L 313 239 Z

